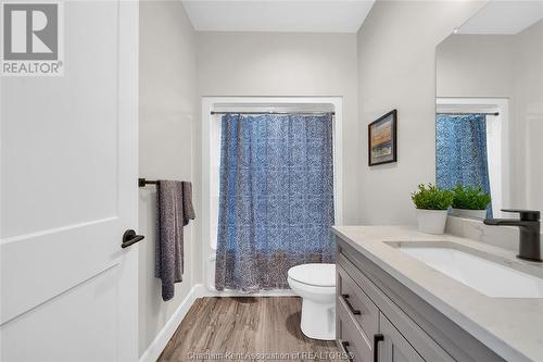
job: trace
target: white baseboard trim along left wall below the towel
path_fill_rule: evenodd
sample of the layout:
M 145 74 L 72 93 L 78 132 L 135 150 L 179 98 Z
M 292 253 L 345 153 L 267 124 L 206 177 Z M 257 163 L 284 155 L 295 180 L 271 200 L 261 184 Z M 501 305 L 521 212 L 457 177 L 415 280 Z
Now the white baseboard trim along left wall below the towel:
M 174 335 L 175 330 L 181 324 L 182 319 L 187 315 L 190 307 L 194 303 L 194 301 L 206 295 L 206 289 L 202 284 L 197 284 L 190 289 L 187 297 L 179 304 L 179 308 L 175 311 L 174 315 L 167 321 L 161 332 L 153 339 L 149 348 L 143 352 L 140 357 L 139 362 L 156 362 L 159 355 L 161 355 L 162 351 L 166 347 L 167 342 Z

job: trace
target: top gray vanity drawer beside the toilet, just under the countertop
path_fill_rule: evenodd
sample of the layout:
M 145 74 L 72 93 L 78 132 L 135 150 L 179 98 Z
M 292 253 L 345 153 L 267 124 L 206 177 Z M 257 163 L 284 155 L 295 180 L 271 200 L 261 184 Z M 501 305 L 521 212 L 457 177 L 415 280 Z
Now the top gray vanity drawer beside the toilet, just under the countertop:
M 337 265 L 338 299 L 368 339 L 379 332 L 379 309 L 341 265 Z

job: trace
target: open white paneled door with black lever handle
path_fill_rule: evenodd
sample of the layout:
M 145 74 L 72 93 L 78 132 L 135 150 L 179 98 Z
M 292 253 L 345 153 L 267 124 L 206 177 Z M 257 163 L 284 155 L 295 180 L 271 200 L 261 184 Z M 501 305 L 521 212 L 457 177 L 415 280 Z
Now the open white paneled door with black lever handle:
M 136 361 L 138 3 L 64 2 L 64 53 L 0 77 L 0 359 Z

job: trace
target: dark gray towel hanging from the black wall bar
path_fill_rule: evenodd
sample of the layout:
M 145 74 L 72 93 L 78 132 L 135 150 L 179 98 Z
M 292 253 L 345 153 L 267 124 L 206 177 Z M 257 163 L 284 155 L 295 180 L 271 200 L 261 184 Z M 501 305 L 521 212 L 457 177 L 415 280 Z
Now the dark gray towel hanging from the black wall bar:
M 156 185 L 156 247 L 154 275 L 162 280 L 162 299 L 174 298 L 182 282 L 182 227 L 194 219 L 192 184 L 159 180 Z

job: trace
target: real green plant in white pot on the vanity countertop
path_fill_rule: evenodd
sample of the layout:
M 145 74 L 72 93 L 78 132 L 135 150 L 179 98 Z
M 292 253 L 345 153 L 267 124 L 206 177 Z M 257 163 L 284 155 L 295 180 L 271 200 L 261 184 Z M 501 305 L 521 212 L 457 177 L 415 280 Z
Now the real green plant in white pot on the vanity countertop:
M 417 208 L 418 229 L 428 234 L 443 234 L 453 192 L 432 184 L 419 185 L 418 190 L 412 194 L 412 199 Z

